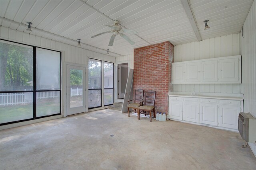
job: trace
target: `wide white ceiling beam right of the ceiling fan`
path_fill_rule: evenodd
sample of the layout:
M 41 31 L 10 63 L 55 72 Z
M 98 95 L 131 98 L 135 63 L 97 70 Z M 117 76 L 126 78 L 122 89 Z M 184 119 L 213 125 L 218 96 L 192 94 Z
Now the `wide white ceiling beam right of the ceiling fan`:
M 189 2 L 188 0 L 181 0 L 181 3 L 182 3 L 182 6 L 188 16 L 188 20 L 190 21 L 190 24 L 194 30 L 194 33 L 196 34 L 196 38 L 198 41 L 202 41 L 202 38 L 201 38 L 201 35 L 199 33 L 199 29 L 198 29 L 198 26 L 196 24 L 196 20 L 194 18 L 194 15 L 192 13 L 192 10 L 190 8 L 190 5 L 189 5 Z

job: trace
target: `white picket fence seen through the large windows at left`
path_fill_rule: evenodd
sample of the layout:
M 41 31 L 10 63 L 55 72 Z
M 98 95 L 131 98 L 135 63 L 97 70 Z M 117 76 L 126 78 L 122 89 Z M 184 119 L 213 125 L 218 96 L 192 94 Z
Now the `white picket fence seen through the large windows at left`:
M 60 92 L 36 92 L 36 99 L 44 98 L 57 98 L 60 97 Z M 1 93 L 0 106 L 16 105 L 16 104 L 29 104 L 33 103 L 33 93 Z

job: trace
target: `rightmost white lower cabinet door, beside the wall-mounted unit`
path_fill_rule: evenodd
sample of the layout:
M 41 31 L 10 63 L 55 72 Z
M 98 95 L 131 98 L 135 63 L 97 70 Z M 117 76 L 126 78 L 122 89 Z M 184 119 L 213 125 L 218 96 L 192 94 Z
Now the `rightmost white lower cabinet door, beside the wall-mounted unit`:
M 220 127 L 238 129 L 238 115 L 240 106 L 219 106 L 219 124 Z

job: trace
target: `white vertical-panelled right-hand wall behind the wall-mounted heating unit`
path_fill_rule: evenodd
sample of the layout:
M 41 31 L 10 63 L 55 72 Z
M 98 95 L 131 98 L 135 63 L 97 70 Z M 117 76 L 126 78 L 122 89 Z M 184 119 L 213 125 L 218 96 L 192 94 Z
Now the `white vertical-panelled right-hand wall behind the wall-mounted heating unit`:
M 254 1 L 240 33 L 242 55 L 242 84 L 244 94 L 244 112 L 256 117 L 256 2 Z M 242 37 L 242 31 L 244 37 Z M 256 133 L 256 129 L 254 131 Z M 256 144 L 249 143 L 256 156 Z

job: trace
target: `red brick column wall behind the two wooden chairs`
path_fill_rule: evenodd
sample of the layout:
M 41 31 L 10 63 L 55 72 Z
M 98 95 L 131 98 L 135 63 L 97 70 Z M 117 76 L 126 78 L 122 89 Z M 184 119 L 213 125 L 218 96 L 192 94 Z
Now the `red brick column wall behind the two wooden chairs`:
M 174 47 L 169 42 L 134 49 L 134 89 L 156 91 L 156 111 L 168 113 Z

